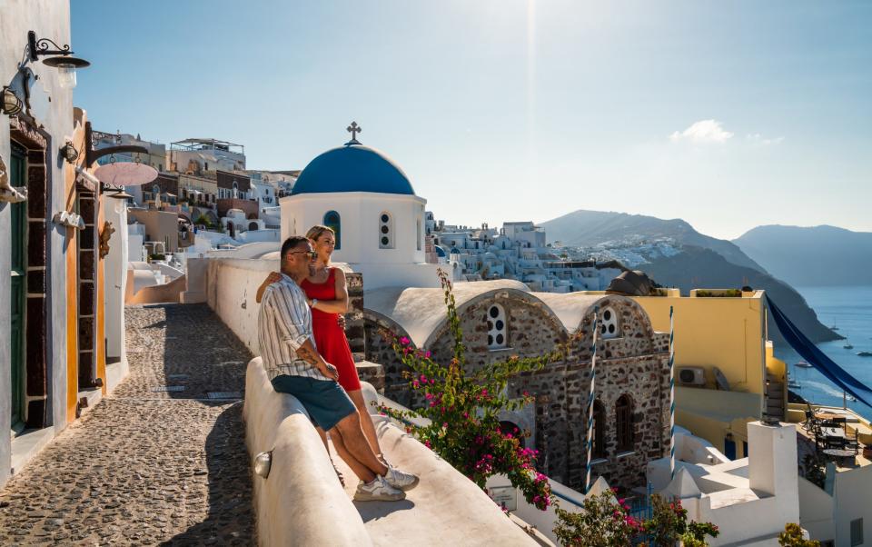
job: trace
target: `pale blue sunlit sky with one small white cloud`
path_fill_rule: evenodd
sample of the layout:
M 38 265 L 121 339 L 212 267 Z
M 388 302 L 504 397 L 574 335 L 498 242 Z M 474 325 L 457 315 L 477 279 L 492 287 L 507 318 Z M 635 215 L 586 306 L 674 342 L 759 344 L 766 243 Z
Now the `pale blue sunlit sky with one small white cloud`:
M 872 3 L 72 0 L 101 131 L 302 169 L 345 128 L 448 224 L 872 232 Z

